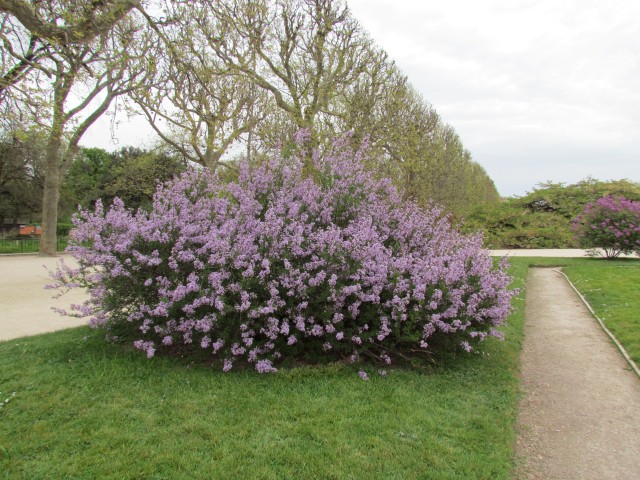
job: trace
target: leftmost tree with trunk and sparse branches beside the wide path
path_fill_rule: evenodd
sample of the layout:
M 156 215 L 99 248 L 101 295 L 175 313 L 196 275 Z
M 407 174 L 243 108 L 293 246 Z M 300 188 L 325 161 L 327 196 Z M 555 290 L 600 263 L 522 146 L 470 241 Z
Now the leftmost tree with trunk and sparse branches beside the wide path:
M 30 5 L 34 15 L 44 19 L 43 22 L 57 24 L 60 19 L 78 18 L 77 11 L 85 12 L 93 4 L 92 1 L 60 1 Z M 20 116 L 47 131 L 40 241 L 40 253 L 44 255 L 56 253 L 60 182 L 80 149 L 82 136 L 116 97 L 144 85 L 143 70 L 127 68 L 138 60 L 130 55 L 130 45 L 144 41 L 136 35 L 139 25 L 131 17 L 114 16 L 113 22 L 108 33 L 95 35 L 90 41 L 50 42 L 40 61 L 32 63 L 32 69 L 20 84 L 12 85 L 8 91 Z M 89 29 L 87 35 L 92 32 Z M 24 44 L 25 39 L 37 35 L 38 31 L 20 31 L 14 26 L 3 33 L 7 50 L 7 41 L 12 45 Z

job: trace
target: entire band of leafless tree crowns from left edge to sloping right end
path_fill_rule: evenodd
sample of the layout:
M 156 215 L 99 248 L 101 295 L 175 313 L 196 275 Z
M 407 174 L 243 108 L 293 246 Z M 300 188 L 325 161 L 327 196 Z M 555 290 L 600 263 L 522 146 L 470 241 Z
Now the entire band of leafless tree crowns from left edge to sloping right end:
M 47 133 L 49 240 L 60 178 L 116 99 L 214 170 L 233 168 L 234 148 L 254 161 L 299 129 L 309 149 L 352 132 L 407 199 L 452 211 L 497 199 L 345 0 L 0 0 L 0 42 L 2 128 Z

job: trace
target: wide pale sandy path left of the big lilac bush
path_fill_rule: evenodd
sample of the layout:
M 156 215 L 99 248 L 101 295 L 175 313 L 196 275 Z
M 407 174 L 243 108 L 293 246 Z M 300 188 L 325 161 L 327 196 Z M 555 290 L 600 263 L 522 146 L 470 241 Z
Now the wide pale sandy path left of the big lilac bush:
M 0 340 L 87 323 L 86 320 L 62 317 L 51 310 L 53 306 L 67 308 L 85 298 L 80 290 L 69 292 L 58 300 L 51 298 L 54 292 L 44 288 L 51 283 L 44 265 L 53 268 L 57 261 L 57 258 L 36 255 L 0 256 Z M 65 257 L 65 261 L 70 263 L 72 259 Z

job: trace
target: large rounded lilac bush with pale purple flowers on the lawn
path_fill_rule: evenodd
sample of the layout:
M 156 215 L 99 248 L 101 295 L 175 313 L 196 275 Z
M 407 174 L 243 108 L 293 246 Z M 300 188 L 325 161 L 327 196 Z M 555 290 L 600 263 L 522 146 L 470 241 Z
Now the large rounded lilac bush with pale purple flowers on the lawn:
M 510 311 L 506 262 L 437 208 L 403 203 L 346 140 L 313 157 L 275 158 L 223 184 L 190 170 L 158 188 L 150 212 L 116 200 L 74 219 L 58 286 L 81 285 L 93 326 L 128 325 L 151 357 L 203 349 L 225 371 L 283 356 L 366 353 L 390 363 L 452 338 L 467 351 Z M 451 342 L 449 342 L 451 343 Z

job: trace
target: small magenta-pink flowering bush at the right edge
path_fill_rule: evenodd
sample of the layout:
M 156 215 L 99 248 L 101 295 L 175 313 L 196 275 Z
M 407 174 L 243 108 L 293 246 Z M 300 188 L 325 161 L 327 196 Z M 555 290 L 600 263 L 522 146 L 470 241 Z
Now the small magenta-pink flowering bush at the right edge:
M 585 206 L 573 221 L 573 229 L 585 248 L 601 248 L 606 258 L 640 253 L 640 202 L 606 196 Z

